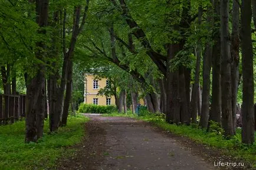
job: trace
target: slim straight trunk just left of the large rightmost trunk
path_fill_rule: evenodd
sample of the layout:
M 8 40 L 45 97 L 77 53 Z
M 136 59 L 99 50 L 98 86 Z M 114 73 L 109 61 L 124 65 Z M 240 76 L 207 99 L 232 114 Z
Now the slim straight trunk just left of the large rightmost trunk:
M 232 6 L 232 34 L 231 34 L 231 87 L 232 87 L 232 117 L 234 134 L 237 124 L 237 91 L 239 81 L 239 4 L 233 1 Z

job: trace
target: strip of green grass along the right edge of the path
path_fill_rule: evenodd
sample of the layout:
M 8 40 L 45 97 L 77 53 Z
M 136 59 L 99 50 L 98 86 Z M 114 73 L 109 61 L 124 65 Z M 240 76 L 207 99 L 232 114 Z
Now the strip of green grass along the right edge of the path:
M 205 129 L 199 129 L 198 125 L 170 125 L 165 122 L 163 116 L 135 114 L 106 114 L 104 116 L 125 116 L 130 118 L 140 119 L 146 122 L 151 122 L 154 125 L 172 132 L 173 134 L 186 136 L 199 144 L 212 146 L 213 148 L 221 149 L 224 154 L 231 155 L 234 158 L 242 159 L 249 162 L 252 167 L 256 168 L 256 142 L 252 146 L 243 145 L 241 143 L 241 129 L 237 129 L 237 134 L 231 139 L 225 139 L 218 132 L 206 132 Z M 256 141 L 256 132 L 255 132 Z

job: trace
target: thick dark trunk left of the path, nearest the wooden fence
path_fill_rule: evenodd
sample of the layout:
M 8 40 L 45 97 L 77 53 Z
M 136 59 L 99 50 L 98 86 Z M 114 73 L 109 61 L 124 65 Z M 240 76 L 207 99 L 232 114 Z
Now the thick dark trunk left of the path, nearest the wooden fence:
M 36 2 L 37 24 L 41 29 L 38 33 L 45 34 L 45 26 L 48 19 L 48 0 Z M 44 42 L 37 42 L 38 51 L 35 52 L 37 59 L 44 61 Z M 44 127 L 44 112 L 45 112 L 45 66 L 37 64 L 37 75 L 29 80 L 27 88 L 27 112 L 26 112 L 26 129 L 25 142 L 37 142 L 42 136 Z

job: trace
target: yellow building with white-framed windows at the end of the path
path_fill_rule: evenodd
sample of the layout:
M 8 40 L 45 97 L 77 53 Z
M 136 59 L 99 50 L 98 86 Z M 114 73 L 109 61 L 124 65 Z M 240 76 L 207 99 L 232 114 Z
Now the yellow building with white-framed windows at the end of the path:
M 96 105 L 114 105 L 114 96 L 107 98 L 105 95 L 97 95 L 100 89 L 103 89 L 109 81 L 106 78 L 95 79 L 94 75 L 86 74 L 84 79 L 84 103 Z

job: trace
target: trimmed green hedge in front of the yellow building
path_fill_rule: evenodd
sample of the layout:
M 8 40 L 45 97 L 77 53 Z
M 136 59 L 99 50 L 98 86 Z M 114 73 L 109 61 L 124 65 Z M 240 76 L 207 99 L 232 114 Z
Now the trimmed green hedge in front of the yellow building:
M 111 114 L 117 111 L 115 105 L 94 105 L 94 104 L 80 104 L 78 107 L 79 113 L 90 113 L 90 114 Z

